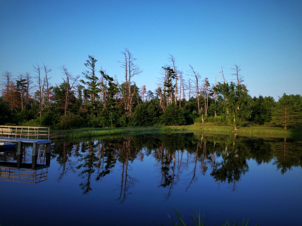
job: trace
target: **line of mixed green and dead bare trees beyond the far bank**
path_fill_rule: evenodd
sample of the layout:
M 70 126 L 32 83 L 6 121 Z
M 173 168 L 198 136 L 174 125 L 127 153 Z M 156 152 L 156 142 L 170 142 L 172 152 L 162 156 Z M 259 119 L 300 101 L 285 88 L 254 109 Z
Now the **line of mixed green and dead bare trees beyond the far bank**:
M 13 76 L 2 74 L 0 116 L 2 124 L 51 126 L 57 129 L 79 127 L 126 127 L 184 125 L 212 123 L 237 126 L 247 124 L 299 128 L 302 125 L 301 95 L 283 94 L 278 101 L 271 96 L 251 97 L 241 76 L 241 68 L 234 64 L 232 81 L 210 84 L 208 78 L 189 65 L 179 70 L 174 56 L 161 68 L 158 87 L 138 88 L 134 77 L 142 73 L 136 58 L 126 48 L 124 80 L 97 69 L 98 60 L 88 56 L 86 70 L 81 76 L 72 75 L 68 68 L 59 67 L 62 83 L 51 84 L 51 68 L 34 65 L 29 72 Z M 216 80 L 216 79 L 215 79 Z

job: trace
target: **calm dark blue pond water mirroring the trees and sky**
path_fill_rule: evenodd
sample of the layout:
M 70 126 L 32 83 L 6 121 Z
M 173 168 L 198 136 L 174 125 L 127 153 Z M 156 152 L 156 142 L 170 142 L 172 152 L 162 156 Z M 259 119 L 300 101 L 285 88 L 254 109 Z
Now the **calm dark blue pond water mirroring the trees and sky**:
M 0 161 L 16 163 L 16 151 Z M 31 166 L 31 147 L 21 161 Z M 42 146 L 36 167 L 45 164 L 1 168 L 1 226 L 173 225 L 175 210 L 189 225 L 191 210 L 210 225 L 213 217 L 215 225 L 243 217 L 248 225 L 302 222 L 302 142 L 295 139 L 170 132 L 83 138 L 53 141 L 51 154 Z

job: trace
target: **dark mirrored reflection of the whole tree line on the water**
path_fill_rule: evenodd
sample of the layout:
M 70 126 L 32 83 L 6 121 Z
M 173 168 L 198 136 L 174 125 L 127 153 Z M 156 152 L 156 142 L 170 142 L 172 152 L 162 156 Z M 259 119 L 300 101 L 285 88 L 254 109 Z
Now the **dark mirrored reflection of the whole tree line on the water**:
M 178 181 L 187 183 L 186 191 L 198 180 L 197 175 L 210 175 L 218 184 L 232 183 L 232 190 L 249 171 L 248 161 L 257 164 L 273 162 L 284 174 L 293 166 L 302 166 L 302 143 L 293 139 L 244 138 L 197 133 L 143 133 L 101 137 L 82 142 L 55 143 L 60 164 L 59 180 L 69 172 L 78 172 L 83 194 L 92 190 L 92 180 L 102 181 L 120 168 L 118 198 L 123 203 L 131 194 L 137 179 L 131 177 L 135 160 L 153 157 L 160 170 L 159 188 L 167 189 L 169 199 Z M 187 158 L 187 159 L 186 159 Z M 210 169 L 210 172 L 208 172 Z M 200 171 L 199 171 L 200 170 Z M 188 173 L 186 173 L 189 171 Z M 182 174 L 185 172 L 184 174 Z

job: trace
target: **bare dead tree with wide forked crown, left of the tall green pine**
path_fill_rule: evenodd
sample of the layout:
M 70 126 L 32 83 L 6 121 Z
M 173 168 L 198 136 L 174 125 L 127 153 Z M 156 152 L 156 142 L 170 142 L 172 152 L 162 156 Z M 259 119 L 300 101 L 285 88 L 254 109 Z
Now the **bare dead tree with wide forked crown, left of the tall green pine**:
M 70 105 L 70 94 L 71 90 L 76 87 L 76 82 L 80 78 L 80 75 L 74 77 L 71 75 L 71 73 L 68 71 L 67 67 L 65 65 L 59 67 L 61 70 L 61 73 L 65 76 L 62 78 L 65 83 L 65 107 L 64 107 L 64 115 L 66 115 L 68 106 Z

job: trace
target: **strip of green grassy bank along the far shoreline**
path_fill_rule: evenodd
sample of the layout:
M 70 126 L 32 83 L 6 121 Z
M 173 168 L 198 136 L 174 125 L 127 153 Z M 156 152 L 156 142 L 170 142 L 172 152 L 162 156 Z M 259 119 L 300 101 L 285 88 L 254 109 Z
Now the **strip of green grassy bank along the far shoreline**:
M 133 132 L 149 131 L 190 131 L 217 134 L 238 134 L 242 136 L 261 136 L 261 137 L 295 137 L 302 133 L 301 130 L 284 130 L 279 127 L 252 126 L 238 127 L 237 131 L 231 126 L 212 126 L 212 125 L 189 125 L 189 126 L 146 126 L 146 127 L 123 127 L 123 128 L 80 128 L 71 130 L 53 130 L 51 138 L 76 138 L 94 137 L 103 135 L 115 135 Z

